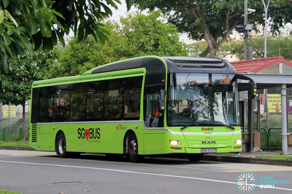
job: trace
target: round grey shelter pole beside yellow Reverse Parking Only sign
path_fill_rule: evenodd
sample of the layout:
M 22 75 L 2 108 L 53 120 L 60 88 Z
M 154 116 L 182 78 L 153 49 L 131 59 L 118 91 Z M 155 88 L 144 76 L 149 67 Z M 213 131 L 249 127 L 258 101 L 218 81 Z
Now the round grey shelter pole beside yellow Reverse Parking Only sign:
M 287 104 L 286 104 L 286 84 L 281 84 L 281 118 L 282 134 L 287 134 Z M 282 135 L 282 155 L 289 155 L 287 135 Z

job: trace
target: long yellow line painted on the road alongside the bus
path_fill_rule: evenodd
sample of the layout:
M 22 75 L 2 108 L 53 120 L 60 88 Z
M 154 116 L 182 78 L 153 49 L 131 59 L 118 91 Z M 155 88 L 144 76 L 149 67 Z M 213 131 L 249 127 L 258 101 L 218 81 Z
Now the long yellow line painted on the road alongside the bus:
M 48 153 L 51 155 L 55 155 L 55 153 Z M 39 155 L 39 156 L 34 156 Z M 87 159 L 69 159 L 69 158 L 58 158 L 58 157 L 46 157 L 41 156 L 40 154 L 21 154 L 21 155 L 11 155 L 11 156 L 20 156 L 20 157 L 31 157 L 31 158 L 48 158 L 48 159 L 60 159 L 60 160 L 77 160 L 77 161 L 92 161 L 92 162 L 102 162 L 102 163 L 118 163 L 118 164 L 130 164 L 130 165 L 144 165 L 144 166 L 160 166 L 160 167 L 168 167 L 168 168 L 185 168 L 185 169 L 193 169 L 193 170 L 209 170 L 209 171 L 218 171 L 218 172 L 260 172 L 260 171 L 292 171 L 292 168 L 286 169 L 253 169 L 253 170 L 214 170 L 214 169 L 206 169 L 206 168 L 192 168 L 192 167 L 183 167 L 183 166 L 169 166 L 169 165 L 158 165 L 158 164 L 141 164 L 141 163 L 128 163 L 128 162 L 113 162 L 113 161 L 100 161 L 100 160 L 87 160 Z

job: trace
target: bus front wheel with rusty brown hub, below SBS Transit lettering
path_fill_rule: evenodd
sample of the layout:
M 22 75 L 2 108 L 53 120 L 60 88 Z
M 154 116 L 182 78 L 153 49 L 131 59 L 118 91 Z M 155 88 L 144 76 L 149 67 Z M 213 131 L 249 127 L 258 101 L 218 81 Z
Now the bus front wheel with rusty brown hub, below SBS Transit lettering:
M 130 162 L 136 163 L 141 161 L 144 156 L 138 154 L 138 140 L 135 134 L 131 133 L 128 138 L 128 159 Z

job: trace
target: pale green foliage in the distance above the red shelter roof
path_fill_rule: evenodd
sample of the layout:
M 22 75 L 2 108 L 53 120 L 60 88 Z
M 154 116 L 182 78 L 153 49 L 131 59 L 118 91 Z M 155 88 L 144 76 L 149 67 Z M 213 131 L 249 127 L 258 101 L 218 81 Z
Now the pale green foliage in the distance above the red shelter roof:
M 265 39 L 262 34 L 248 40 L 248 46 L 253 47 L 253 58 L 264 58 Z M 235 55 L 244 60 L 244 41 L 236 40 L 223 44 L 218 49 L 221 57 Z M 267 37 L 267 57 L 282 55 L 286 60 L 292 60 L 292 35 L 277 35 Z

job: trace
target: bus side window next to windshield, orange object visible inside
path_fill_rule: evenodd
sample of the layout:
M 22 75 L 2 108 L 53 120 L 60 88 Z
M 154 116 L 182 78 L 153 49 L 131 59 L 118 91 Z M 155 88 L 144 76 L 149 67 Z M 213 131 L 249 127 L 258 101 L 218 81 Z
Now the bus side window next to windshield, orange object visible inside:
M 159 113 L 157 106 L 157 97 L 163 86 L 145 86 L 144 88 L 143 116 L 145 127 L 163 127 L 163 114 Z

